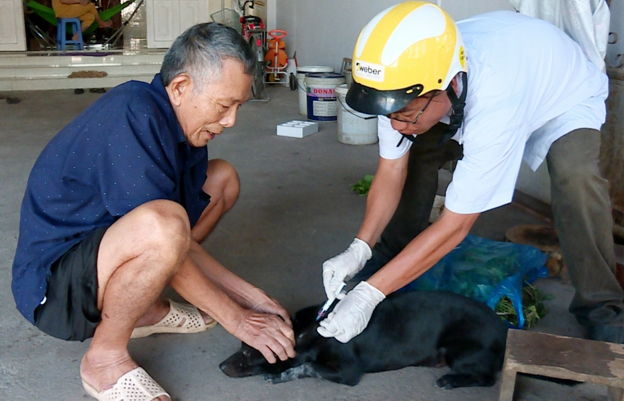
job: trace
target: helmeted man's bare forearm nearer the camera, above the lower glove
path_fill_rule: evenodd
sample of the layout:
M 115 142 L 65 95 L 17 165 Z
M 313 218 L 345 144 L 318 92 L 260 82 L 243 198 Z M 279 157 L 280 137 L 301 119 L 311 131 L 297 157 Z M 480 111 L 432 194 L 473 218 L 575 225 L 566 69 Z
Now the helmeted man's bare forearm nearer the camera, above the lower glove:
M 444 210 L 401 253 L 367 281 L 388 295 L 424 274 L 437 261 L 452 251 L 468 234 L 479 213 L 459 215 Z

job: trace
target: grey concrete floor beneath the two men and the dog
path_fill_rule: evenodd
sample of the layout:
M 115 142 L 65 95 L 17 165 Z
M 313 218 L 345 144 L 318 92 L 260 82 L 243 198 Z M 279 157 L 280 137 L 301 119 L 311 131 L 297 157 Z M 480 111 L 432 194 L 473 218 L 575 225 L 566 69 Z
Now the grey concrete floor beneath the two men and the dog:
M 374 173 L 376 145 L 339 143 L 336 123 L 320 123 L 305 139 L 275 135 L 279 123 L 301 118 L 297 92 L 268 88 L 268 103 L 250 102 L 236 127 L 211 141 L 209 157 L 231 161 L 241 177 L 238 204 L 205 242 L 220 262 L 277 298 L 289 311 L 324 301 L 323 260 L 343 251 L 355 235 L 365 197 L 349 188 Z M 80 383 L 80 358 L 89 341 L 65 342 L 44 335 L 15 309 L 10 291 L 19 207 L 37 154 L 98 94 L 86 91 L 3 93 L 21 102 L 0 101 L 0 400 L 87 400 Z M 444 178 L 444 172 L 442 172 Z M 544 220 L 517 204 L 484 213 L 475 235 L 503 240 L 516 224 Z M 555 278 L 537 287 L 554 296 L 550 312 L 535 330 L 580 336 L 567 306 L 573 289 Z M 173 296 L 175 294 L 166 294 Z M 167 389 L 173 400 L 498 400 L 490 388 L 444 391 L 435 380 L 444 368 L 404 368 L 368 374 L 354 387 L 306 379 L 272 385 L 261 377 L 232 379 L 218 364 L 239 341 L 218 326 L 196 335 L 157 335 L 130 341 L 132 357 Z M 574 388 L 520 377 L 516 400 L 606 400 L 603 386 Z

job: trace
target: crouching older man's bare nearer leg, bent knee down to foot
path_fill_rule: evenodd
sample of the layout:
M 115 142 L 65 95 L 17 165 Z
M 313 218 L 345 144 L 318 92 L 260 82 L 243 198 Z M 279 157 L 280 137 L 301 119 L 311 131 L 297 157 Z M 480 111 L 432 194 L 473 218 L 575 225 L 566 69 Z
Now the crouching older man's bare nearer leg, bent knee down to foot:
M 106 231 L 98 253 L 102 321 L 80 364 L 80 376 L 98 391 L 137 367 L 127 347 L 132 329 L 180 269 L 189 244 L 186 212 L 164 200 L 139 206 Z

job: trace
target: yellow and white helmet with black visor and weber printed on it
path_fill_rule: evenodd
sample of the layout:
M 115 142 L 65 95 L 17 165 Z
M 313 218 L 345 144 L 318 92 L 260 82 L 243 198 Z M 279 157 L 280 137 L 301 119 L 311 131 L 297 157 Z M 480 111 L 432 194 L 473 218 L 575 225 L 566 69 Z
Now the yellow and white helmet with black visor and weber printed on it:
M 426 1 L 399 3 L 362 29 L 347 104 L 365 114 L 397 112 L 421 94 L 447 89 L 467 69 L 461 34 L 447 12 Z

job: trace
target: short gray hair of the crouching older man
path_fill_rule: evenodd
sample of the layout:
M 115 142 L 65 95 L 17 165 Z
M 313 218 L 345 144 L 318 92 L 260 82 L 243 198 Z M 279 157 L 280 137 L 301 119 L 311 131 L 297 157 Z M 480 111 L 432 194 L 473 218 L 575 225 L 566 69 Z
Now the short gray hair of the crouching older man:
M 214 22 L 191 26 L 165 54 L 160 67 L 162 82 L 167 86 L 177 75 L 187 73 L 194 82 L 193 90 L 201 92 L 205 85 L 218 82 L 222 62 L 228 58 L 240 61 L 245 74 L 254 74 L 254 53 L 240 33 Z

